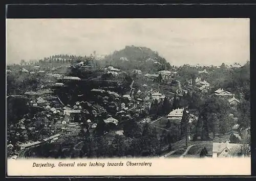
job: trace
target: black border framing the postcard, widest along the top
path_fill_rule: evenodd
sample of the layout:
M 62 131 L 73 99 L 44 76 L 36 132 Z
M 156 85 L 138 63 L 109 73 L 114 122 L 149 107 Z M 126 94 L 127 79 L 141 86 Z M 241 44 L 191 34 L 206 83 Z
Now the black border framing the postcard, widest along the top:
M 9 1 L 8 3 L 12 3 L 14 1 Z M 24 2 L 24 1 L 23 1 Z M 250 76 L 251 76 L 251 120 L 254 118 L 254 102 L 255 95 L 253 94 L 254 90 L 254 63 L 253 59 L 255 59 L 255 36 L 254 32 L 256 32 L 256 4 L 248 4 L 249 1 L 243 1 L 244 4 L 237 4 L 241 2 L 234 2 L 234 4 L 205 4 L 205 1 L 197 1 L 191 4 L 191 1 L 183 1 L 184 4 L 176 4 L 178 1 L 168 1 L 173 4 L 166 4 L 166 1 L 158 1 L 158 4 L 150 4 L 150 2 L 142 2 L 140 4 L 93 4 L 91 2 L 90 5 L 85 4 L 72 4 L 71 1 L 62 1 L 65 4 L 48 4 L 38 5 L 40 1 L 37 2 L 29 2 L 34 3 L 33 5 L 29 4 L 20 4 L 22 1 L 15 1 L 16 4 L 6 5 L 6 18 L 250 18 Z M 230 3 L 230 1 L 216 1 L 215 3 Z M 35 4 L 37 3 L 37 5 Z M 50 3 L 50 2 L 49 2 Z M 51 3 L 56 3 L 56 1 L 51 1 Z M 120 3 L 120 1 L 119 1 Z M 127 3 L 127 2 L 126 2 Z M 131 2 L 130 2 L 131 3 Z M 135 3 L 135 2 L 132 2 Z M 145 4 L 146 3 L 146 4 Z M 160 4 L 161 3 L 161 4 Z M 201 3 L 201 4 L 199 4 Z M 247 3 L 247 4 L 245 4 Z M 19 5 L 18 5 L 19 4 Z M 69 4 L 69 5 L 68 5 Z M 72 4 L 72 5 L 71 5 Z M 164 5 L 163 5 L 164 4 Z M 255 123 L 251 121 L 251 135 L 255 133 Z M 255 176 L 255 139 L 253 136 L 251 137 L 252 145 L 252 155 L 251 155 L 251 175 Z M 6 165 L 5 165 L 6 166 Z M 7 170 L 5 172 L 7 176 Z M 191 175 L 192 176 L 192 175 Z M 190 177 L 190 179 L 194 179 L 194 177 Z M 210 176 L 210 175 L 208 175 Z M 220 175 L 221 176 L 221 175 Z M 219 179 L 220 176 L 214 176 Z M 11 177 L 10 178 L 20 178 L 20 177 Z M 77 176 L 71 176 L 74 178 Z M 86 176 L 87 179 L 92 178 L 93 176 Z M 97 178 L 120 178 L 120 176 L 97 176 Z M 130 177 L 157 177 L 157 176 L 124 176 L 122 178 L 130 178 Z M 182 176 L 160 176 L 160 177 L 173 177 L 173 178 L 181 178 Z M 200 178 L 202 180 L 205 179 L 205 176 L 195 176 L 195 177 L 203 177 Z M 227 178 L 228 176 L 224 176 Z M 232 176 L 231 176 L 232 177 Z M 247 176 L 248 177 L 248 176 Z M 30 178 L 26 176 L 25 178 Z M 39 177 L 33 177 L 32 180 L 38 179 Z M 41 178 L 41 177 L 40 177 Z M 48 178 L 45 176 L 44 178 Z M 52 176 L 51 178 L 59 178 L 58 176 Z M 61 179 L 67 178 L 66 176 L 61 176 Z M 184 178 L 184 177 L 182 177 Z M 236 177 L 241 178 L 241 176 Z M 70 179 L 70 178 L 68 178 Z M 80 177 L 77 179 L 81 179 Z M 242 178 L 244 179 L 244 178 Z

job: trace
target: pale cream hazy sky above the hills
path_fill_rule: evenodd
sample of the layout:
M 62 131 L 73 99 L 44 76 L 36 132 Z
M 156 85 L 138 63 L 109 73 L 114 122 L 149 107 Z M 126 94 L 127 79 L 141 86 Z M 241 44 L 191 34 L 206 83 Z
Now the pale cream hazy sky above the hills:
M 7 19 L 7 64 L 57 54 L 108 55 L 126 45 L 157 51 L 171 65 L 245 64 L 249 18 Z

